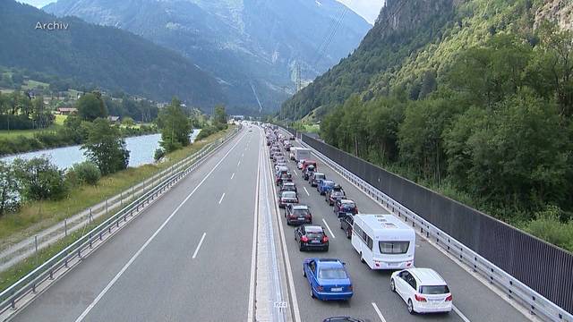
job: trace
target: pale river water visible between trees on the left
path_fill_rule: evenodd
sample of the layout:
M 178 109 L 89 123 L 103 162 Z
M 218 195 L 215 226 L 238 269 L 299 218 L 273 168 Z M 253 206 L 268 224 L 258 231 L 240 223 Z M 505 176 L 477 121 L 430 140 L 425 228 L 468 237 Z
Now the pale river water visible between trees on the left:
M 194 141 L 199 134 L 200 130 L 193 130 L 191 134 L 191 141 Z M 129 154 L 129 166 L 147 165 L 153 163 L 155 150 L 159 148 L 159 141 L 161 134 L 142 135 L 139 137 L 131 137 L 125 139 Z M 70 167 L 73 164 L 80 163 L 86 160 L 83 155 L 84 150 L 81 146 L 71 146 L 64 148 L 48 148 L 40 151 L 21 153 L 10 157 L 2 157 L 1 160 L 12 162 L 16 158 L 29 160 L 33 157 L 48 157 L 51 162 L 57 165 L 60 169 Z

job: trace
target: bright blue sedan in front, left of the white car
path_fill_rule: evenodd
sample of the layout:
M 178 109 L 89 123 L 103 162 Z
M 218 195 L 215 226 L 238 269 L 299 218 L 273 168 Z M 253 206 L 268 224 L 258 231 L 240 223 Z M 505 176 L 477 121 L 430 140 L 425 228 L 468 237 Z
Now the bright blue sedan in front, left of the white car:
M 322 301 L 347 301 L 354 294 L 350 276 L 338 258 L 306 258 L 303 275 L 311 285 L 311 296 Z

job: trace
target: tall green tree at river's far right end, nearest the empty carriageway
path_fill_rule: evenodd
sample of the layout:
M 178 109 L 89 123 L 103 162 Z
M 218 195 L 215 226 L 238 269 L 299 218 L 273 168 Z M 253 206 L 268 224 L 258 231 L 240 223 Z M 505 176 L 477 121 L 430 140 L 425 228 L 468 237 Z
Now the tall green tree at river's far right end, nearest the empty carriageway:
M 167 152 L 189 145 L 191 122 L 177 98 L 173 98 L 171 105 L 159 113 L 158 127 L 161 130 L 161 147 Z

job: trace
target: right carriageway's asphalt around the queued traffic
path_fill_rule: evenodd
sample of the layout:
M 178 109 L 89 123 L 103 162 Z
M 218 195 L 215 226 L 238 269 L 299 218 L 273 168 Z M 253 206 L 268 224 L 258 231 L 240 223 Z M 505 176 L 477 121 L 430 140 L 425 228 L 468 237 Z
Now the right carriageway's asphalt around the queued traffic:
M 300 144 L 296 144 L 299 146 Z M 286 154 L 288 156 L 288 154 Z M 388 214 L 389 212 L 359 191 L 350 182 L 323 165 L 318 158 L 318 171 L 326 174 L 327 178 L 340 183 L 349 199 L 353 199 L 360 213 Z M 287 237 L 288 257 L 293 271 L 295 290 L 302 321 L 321 321 L 323 318 L 333 316 L 353 316 L 371 321 L 403 322 L 403 321 L 528 321 L 520 311 L 509 305 L 495 292 L 468 274 L 457 263 L 437 250 L 419 234 L 416 235 L 415 266 L 431 267 L 448 282 L 453 293 L 456 311 L 449 314 L 438 315 L 410 315 L 406 303 L 389 289 L 390 272 L 374 271 L 363 264 L 346 235 L 340 230 L 337 216 L 326 203 L 324 196 L 319 195 L 310 183 L 305 182 L 296 169 L 294 162 L 288 167 L 293 174 L 293 181 L 299 191 L 300 203 L 312 208 L 313 224 L 322 225 L 330 234 L 329 251 L 301 252 L 293 238 L 294 228 L 282 226 Z M 308 194 L 307 194 L 308 192 Z M 355 295 L 349 302 L 325 302 L 311 298 L 310 287 L 302 275 L 302 262 L 304 258 L 323 257 L 341 258 L 346 262 L 346 269 L 355 286 Z M 378 311 L 380 311 L 380 313 Z

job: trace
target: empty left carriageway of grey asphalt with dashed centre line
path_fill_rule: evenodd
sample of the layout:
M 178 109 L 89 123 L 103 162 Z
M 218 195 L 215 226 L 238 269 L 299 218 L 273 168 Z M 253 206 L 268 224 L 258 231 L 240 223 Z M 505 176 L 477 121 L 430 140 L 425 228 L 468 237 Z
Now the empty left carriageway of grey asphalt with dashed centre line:
M 261 144 L 239 133 L 13 321 L 246 320 Z

